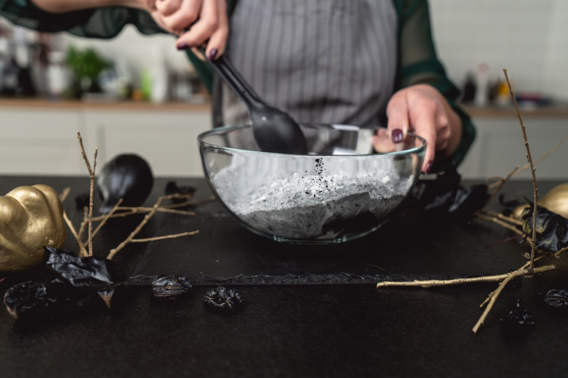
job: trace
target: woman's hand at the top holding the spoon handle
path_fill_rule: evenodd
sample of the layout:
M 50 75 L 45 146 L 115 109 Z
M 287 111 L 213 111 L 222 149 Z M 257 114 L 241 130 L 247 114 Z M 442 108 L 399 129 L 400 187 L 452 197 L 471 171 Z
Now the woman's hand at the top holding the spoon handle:
M 221 56 L 229 34 L 225 0 L 137 0 L 164 30 L 178 35 L 178 50 L 197 47 L 207 40 L 210 60 Z M 199 54 L 200 55 L 200 54 Z

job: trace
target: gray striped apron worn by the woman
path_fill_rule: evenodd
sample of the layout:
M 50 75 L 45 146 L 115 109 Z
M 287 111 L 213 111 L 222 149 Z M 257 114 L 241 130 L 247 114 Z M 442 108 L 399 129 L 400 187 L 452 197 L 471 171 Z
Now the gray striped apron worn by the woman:
M 300 123 L 374 126 L 393 94 L 397 23 L 392 0 L 239 0 L 226 54 Z M 250 123 L 227 87 L 214 96 L 224 125 Z

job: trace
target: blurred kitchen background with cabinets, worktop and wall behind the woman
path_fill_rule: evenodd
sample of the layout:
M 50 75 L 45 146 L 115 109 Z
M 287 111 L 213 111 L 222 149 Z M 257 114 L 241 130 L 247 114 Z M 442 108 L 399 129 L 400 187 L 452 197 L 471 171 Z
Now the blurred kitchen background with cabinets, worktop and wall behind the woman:
M 478 135 L 464 177 L 526 163 L 503 83 L 507 68 L 537 159 L 568 133 L 568 1 L 430 0 L 439 58 Z M 113 40 L 40 35 L 0 21 L 0 174 L 86 174 L 80 130 L 99 164 L 136 152 L 157 176 L 202 176 L 197 135 L 209 97 L 170 35 L 127 27 Z M 537 168 L 568 179 L 568 142 Z M 528 177 L 528 172 L 519 177 Z

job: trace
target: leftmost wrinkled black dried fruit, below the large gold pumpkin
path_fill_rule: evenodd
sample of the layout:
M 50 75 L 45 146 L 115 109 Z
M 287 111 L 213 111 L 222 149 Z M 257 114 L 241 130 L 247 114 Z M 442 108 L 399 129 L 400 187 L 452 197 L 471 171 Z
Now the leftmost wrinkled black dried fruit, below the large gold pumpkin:
M 4 295 L 4 304 L 16 319 L 48 317 L 67 301 L 69 297 L 62 284 L 54 282 L 21 282 Z

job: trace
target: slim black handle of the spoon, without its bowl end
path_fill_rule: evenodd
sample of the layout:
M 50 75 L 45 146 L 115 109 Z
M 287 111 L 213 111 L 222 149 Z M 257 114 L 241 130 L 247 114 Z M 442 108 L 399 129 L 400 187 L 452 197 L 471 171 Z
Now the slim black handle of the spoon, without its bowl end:
M 203 56 L 207 56 L 205 55 L 205 49 L 202 46 L 199 50 Z M 223 82 L 227 84 L 241 100 L 244 101 L 249 109 L 257 109 L 258 107 L 266 106 L 258 94 L 256 94 L 256 91 L 252 89 L 249 83 L 247 83 L 235 67 L 233 67 L 228 58 L 221 55 L 215 60 L 209 60 L 209 58 L 207 58 L 207 61 L 212 65 L 213 70 L 222 77 Z

